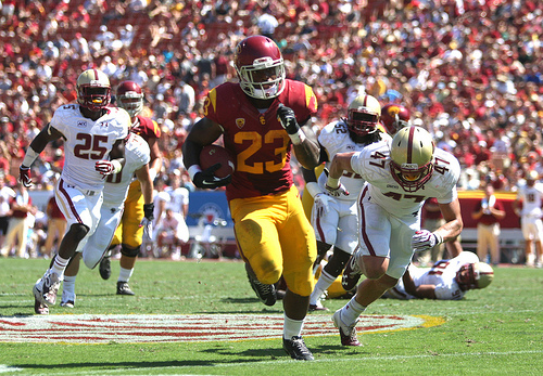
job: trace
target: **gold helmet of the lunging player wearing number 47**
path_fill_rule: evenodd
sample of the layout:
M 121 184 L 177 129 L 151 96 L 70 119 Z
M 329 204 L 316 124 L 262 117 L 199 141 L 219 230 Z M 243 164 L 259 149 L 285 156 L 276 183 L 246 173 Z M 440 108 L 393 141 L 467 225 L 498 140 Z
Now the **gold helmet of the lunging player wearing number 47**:
M 418 191 L 430 180 L 434 150 L 432 137 L 424 128 L 405 127 L 394 135 L 390 147 L 390 170 L 404 191 Z

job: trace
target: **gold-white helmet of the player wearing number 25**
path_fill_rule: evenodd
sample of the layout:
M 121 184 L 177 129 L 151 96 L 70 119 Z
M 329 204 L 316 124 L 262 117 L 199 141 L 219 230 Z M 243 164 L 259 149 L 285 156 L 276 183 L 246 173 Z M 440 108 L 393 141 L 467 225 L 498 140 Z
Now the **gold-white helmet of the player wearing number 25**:
M 90 111 L 105 108 L 111 101 L 108 76 L 98 69 L 87 69 L 77 78 L 77 103 Z

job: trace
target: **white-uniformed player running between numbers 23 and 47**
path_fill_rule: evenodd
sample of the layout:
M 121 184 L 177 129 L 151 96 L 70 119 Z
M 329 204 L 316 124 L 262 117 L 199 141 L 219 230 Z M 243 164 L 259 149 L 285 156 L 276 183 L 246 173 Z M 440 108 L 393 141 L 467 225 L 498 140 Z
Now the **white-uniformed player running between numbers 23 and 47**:
M 380 130 L 379 116 L 381 106 L 371 95 L 356 96 L 349 105 L 348 117 L 327 125 L 318 135 L 321 161 L 326 168 L 338 153 L 361 152 L 366 145 L 389 139 Z M 313 196 L 312 225 L 317 239 L 317 264 L 333 247 L 320 272 L 315 288 L 310 297 L 310 311 L 326 310 L 320 302 L 323 294 L 341 274 L 346 262 L 358 245 L 356 196 L 332 197 L 326 193 L 326 174 L 318 178 L 315 170 L 304 169 L 307 192 Z M 365 180 L 357 173 L 343 174 L 341 182 L 349 192 L 361 192 Z

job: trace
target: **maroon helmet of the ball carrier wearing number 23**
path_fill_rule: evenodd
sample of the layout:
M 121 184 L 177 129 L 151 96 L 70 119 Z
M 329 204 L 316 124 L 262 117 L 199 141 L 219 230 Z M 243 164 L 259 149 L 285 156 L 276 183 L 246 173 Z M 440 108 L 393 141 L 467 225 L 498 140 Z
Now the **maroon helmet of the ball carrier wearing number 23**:
M 276 98 L 285 90 L 285 62 L 269 38 L 252 36 L 236 47 L 233 65 L 241 90 L 258 100 Z

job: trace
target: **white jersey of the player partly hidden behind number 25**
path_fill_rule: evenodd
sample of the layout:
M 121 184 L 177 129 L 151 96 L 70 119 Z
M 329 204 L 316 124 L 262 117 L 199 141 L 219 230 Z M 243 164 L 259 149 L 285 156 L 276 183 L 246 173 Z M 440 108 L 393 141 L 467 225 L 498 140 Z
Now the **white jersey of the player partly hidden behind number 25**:
M 151 150 L 141 135 L 131 133 L 125 144 L 125 166 L 105 179 L 103 206 L 121 207 L 126 199 L 134 173 L 151 160 Z

